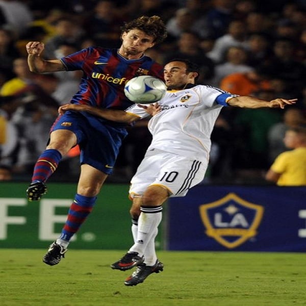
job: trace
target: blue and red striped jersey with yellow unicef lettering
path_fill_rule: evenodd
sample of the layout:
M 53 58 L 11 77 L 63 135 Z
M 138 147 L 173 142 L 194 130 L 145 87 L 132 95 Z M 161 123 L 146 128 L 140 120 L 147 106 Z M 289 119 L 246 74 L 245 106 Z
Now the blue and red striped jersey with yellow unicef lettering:
M 133 103 L 124 95 L 124 85 L 137 75 L 154 75 L 163 80 L 163 66 L 147 56 L 128 60 L 118 49 L 89 47 L 61 58 L 69 71 L 83 70 L 79 91 L 71 103 L 125 110 Z

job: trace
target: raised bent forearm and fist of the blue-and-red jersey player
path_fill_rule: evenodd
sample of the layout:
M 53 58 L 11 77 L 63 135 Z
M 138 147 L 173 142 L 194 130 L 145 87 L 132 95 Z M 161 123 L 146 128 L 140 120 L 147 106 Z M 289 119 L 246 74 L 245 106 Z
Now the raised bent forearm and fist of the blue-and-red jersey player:
M 44 43 L 39 41 L 30 41 L 25 46 L 28 52 L 28 65 L 30 71 L 36 73 L 64 71 L 65 67 L 60 60 L 46 61 L 41 58 L 44 49 Z

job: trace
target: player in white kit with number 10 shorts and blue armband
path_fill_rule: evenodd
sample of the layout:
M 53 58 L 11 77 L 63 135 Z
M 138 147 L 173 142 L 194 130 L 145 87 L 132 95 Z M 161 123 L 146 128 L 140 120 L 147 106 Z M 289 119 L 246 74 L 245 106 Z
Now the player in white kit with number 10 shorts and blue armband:
M 210 136 L 222 107 L 284 108 L 296 99 L 265 101 L 252 96 L 238 96 L 206 85 L 196 85 L 198 68 L 188 60 L 173 60 L 164 67 L 168 87 L 158 105 L 133 105 L 125 111 L 64 105 L 59 111 L 87 111 L 109 120 L 133 122 L 149 114 L 152 134 L 143 161 L 133 176 L 130 198 L 134 245 L 113 269 L 137 269 L 125 279 L 135 286 L 151 273 L 163 271 L 157 259 L 155 238 L 162 220 L 162 205 L 168 197 L 185 196 L 199 184 L 207 170 L 211 148 Z

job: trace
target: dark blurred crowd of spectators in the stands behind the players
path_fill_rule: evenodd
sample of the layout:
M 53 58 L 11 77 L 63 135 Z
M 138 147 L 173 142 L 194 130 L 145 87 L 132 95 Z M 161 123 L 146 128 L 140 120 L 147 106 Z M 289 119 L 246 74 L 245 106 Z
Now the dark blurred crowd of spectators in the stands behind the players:
M 120 46 L 120 27 L 141 15 L 163 18 L 168 37 L 147 55 L 161 64 L 188 58 L 198 83 L 271 100 L 298 98 L 294 107 L 223 108 L 212 134 L 203 183 L 253 184 L 287 148 L 286 127 L 306 118 L 306 1 L 284 0 L 0 0 L 0 181 L 30 180 L 60 105 L 77 92 L 80 71 L 34 74 L 25 44 L 45 43 L 55 59 L 90 45 Z M 109 182 L 128 182 L 150 134 L 129 127 Z M 52 177 L 77 181 L 78 150 Z

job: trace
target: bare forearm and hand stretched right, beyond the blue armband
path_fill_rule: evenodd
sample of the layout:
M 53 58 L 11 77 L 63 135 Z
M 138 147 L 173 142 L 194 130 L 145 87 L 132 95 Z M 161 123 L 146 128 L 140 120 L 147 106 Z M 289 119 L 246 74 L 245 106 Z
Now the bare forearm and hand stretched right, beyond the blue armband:
M 235 107 L 242 107 L 242 108 L 262 108 L 262 107 L 269 107 L 269 108 L 281 108 L 284 109 L 287 105 L 295 104 L 297 99 L 282 99 L 277 98 L 271 101 L 262 100 L 252 96 L 237 96 L 233 97 L 227 101 L 227 104 L 230 106 Z

